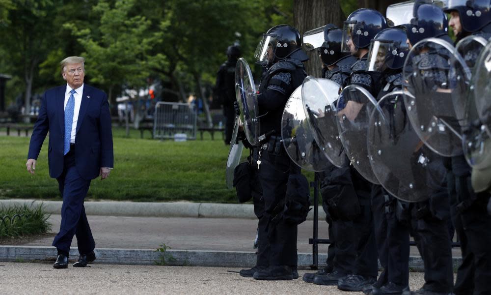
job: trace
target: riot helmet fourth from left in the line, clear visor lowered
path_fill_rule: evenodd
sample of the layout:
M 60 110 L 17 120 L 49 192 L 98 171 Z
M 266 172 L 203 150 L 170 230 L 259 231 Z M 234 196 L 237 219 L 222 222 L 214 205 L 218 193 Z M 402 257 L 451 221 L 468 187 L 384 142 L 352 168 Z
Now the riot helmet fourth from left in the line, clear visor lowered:
M 370 42 L 367 71 L 382 72 L 401 69 L 408 56 L 409 44 L 406 30 L 389 28 L 381 30 Z

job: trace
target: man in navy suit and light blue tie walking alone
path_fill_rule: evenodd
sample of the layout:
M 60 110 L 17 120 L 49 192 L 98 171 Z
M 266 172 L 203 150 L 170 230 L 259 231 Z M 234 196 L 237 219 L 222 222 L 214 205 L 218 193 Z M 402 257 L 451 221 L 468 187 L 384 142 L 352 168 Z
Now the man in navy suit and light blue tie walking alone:
M 56 178 L 63 198 L 61 226 L 53 246 L 58 250 L 55 268 L 68 267 L 68 253 L 77 236 L 79 261 L 84 267 L 95 260 L 95 242 L 83 207 L 90 181 L 109 177 L 113 167 L 111 116 L 106 93 L 83 84 L 84 59 L 61 61 L 67 85 L 47 90 L 41 100 L 27 155 L 27 171 L 34 174 L 36 159 L 48 131 L 50 176 Z

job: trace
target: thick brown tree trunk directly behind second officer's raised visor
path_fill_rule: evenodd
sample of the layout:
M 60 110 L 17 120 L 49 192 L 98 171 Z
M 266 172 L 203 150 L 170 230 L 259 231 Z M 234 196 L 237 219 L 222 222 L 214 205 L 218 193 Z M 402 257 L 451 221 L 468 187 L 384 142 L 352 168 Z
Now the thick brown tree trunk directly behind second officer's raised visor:
M 294 0 L 293 19 L 295 28 L 300 34 L 334 24 L 343 27 L 345 16 L 339 5 L 339 0 Z M 307 52 L 310 60 L 305 63 L 307 74 L 320 77 L 322 73 L 321 59 L 315 50 Z

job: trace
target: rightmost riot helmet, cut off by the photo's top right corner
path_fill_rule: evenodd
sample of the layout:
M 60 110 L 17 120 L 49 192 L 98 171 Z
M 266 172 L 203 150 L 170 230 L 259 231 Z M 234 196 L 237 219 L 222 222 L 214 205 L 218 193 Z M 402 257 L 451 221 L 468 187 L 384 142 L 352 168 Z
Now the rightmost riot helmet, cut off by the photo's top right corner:
M 443 10 L 458 11 L 462 29 L 476 32 L 491 23 L 491 0 L 448 0 Z

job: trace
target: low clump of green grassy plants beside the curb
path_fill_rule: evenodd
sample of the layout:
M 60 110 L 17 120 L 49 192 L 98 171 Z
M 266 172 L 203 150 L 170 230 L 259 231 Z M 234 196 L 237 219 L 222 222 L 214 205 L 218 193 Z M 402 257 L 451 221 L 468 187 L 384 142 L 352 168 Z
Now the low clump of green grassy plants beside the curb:
M 44 234 L 51 230 L 50 214 L 43 206 L 0 207 L 0 239 L 25 235 Z

